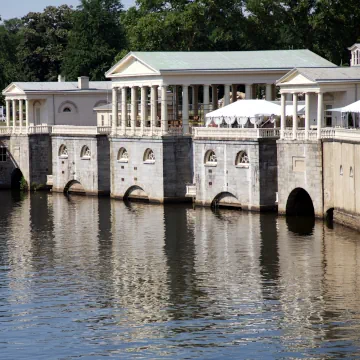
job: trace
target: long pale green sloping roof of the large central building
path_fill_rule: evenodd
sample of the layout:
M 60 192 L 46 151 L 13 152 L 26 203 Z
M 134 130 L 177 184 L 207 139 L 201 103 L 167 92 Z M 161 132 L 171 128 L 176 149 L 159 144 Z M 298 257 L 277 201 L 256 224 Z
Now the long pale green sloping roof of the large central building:
M 293 69 L 332 67 L 310 50 L 213 51 L 213 52 L 132 52 L 157 71 Z

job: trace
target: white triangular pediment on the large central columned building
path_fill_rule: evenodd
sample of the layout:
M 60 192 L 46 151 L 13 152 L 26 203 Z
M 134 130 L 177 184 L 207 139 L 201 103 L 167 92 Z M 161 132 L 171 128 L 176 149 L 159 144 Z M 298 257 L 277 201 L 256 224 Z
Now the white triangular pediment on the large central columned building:
M 115 64 L 107 73 L 106 77 L 122 77 L 122 76 L 142 76 L 155 75 L 158 72 L 152 69 L 145 62 L 138 59 L 133 54 L 128 54 L 117 64 Z

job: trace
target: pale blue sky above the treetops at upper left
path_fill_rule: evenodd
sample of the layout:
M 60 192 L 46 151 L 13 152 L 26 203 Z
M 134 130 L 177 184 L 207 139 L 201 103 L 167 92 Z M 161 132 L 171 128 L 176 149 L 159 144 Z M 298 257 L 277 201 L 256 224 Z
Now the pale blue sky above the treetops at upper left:
M 30 11 L 39 12 L 46 6 L 59 6 L 63 4 L 76 7 L 79 0 L 0 0 L 0 16 L 3 20 L 22 17 Z M 122 0 L 125 8 L 135 4 L 135 0 Z

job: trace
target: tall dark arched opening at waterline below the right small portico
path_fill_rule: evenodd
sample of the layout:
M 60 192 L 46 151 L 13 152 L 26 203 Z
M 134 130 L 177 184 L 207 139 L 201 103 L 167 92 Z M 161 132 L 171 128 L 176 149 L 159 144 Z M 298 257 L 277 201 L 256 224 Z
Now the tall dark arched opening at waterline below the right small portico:
M 294 189 L 286 203 L 286 215 L 315 217 L 314 204 L 303 188 Z

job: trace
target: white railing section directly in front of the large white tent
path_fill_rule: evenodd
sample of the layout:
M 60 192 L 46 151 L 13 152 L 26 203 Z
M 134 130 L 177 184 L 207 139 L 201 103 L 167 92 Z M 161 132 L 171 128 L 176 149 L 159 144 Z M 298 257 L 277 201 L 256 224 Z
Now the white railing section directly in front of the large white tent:
M 194 138 L 202 139 L 259 139 L 272 138 L 277 139 L 280 136 L 279 129 L 265 128 L 211 128 L 194 127 L 192 129 Z

